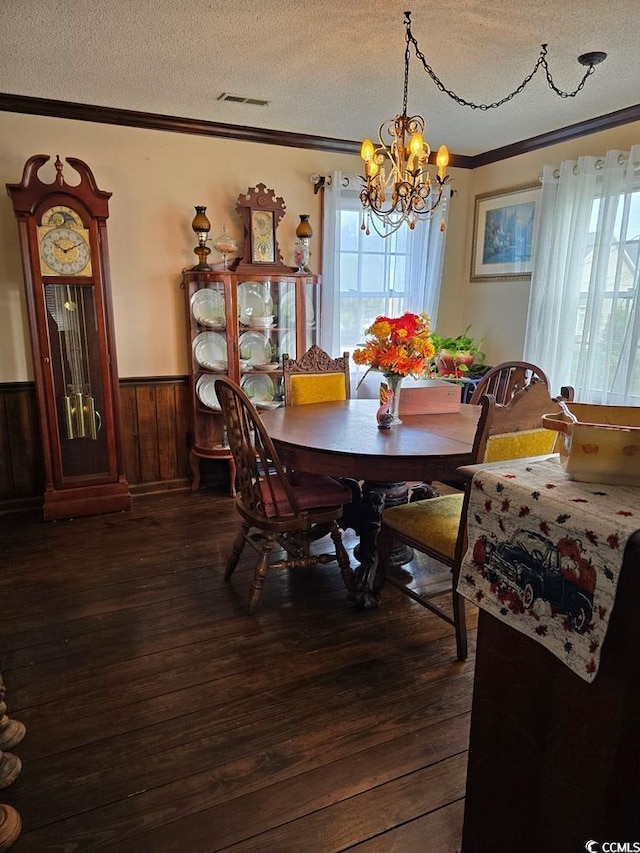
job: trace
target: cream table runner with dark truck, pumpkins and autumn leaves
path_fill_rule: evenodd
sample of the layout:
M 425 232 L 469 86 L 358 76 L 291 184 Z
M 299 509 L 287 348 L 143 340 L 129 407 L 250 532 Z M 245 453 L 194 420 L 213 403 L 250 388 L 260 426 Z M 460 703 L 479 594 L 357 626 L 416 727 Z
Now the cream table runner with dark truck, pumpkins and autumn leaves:
M 593 681 L 640 489 L 513 460 L 474 475 L 467 526 L 458 592 Z

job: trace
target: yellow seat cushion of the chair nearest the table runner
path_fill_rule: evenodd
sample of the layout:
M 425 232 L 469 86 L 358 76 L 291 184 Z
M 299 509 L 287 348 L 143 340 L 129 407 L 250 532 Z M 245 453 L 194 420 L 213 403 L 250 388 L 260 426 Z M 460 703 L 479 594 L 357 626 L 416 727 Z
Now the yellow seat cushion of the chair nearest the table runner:
M 442 495 L 389 507 L 382 521 L 391 531 L 424 542 L 453 560 L 463 500 L 462 494 Z

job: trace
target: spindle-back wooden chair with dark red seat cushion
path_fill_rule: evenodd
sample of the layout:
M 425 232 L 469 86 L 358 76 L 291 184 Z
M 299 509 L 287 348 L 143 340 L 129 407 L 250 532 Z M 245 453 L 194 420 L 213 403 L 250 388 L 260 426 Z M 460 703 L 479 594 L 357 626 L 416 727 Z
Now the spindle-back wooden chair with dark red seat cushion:
M 242 518 L 227 561 L 225 581 L 231 578 L 248 544 L 258 554 L 249 591 L 249 615 L 260 600 L 271 569 L 308 568 L 337 561 L 350 590 L 353 574 L 338 526 L 342 506 L 351 500 L 350 490 L 333 477 L 302 472 L 288 475 L 244 391 L 226 376 L 216 379 L 215 391 L 236 464 L 236 509 Z M 316 533 L 329 533 L 334 550 L 311 553 Z M 276 545 L 284 554 L 271 561 Z

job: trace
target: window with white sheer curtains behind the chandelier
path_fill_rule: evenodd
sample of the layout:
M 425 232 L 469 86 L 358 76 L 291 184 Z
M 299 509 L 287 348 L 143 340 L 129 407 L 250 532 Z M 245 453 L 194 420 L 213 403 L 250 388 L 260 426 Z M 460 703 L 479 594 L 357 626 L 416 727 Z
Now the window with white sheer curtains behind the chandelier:
M 361 179 L 334 172 L 327 183 L 322 216 L 320 346 L 332 354 L 352 349 L 344 315 L 348 302 L 353 323 L 354 297 L 361 307 L 356 315 L 361 318 L 360 340 L 376 314 L 426 311 L 435 325 L 446 240 L 446 230 L 440 230 L 442 215 L 420 223 L 414 231 L 407 226 L 393 237 L 366 236 L 353 227 L 360 216 Z M 446 222 L 446 210 L 444 215 Z M 367 254 L 369 250 L 371 254 Z M 375 285 L 368 280 L 375 280 Z

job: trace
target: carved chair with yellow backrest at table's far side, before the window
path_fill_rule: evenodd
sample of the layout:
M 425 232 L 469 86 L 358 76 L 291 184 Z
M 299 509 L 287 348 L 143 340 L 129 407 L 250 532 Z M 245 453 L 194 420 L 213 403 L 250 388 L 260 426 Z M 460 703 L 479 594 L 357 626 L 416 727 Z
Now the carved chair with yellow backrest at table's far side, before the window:
M 286 406 L 348 400 L 349 353 L 332 358 L 316 344 L 300 359 L 282 356 L 282 378 Z

